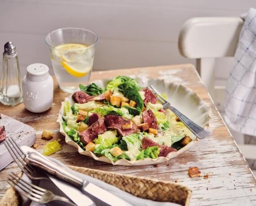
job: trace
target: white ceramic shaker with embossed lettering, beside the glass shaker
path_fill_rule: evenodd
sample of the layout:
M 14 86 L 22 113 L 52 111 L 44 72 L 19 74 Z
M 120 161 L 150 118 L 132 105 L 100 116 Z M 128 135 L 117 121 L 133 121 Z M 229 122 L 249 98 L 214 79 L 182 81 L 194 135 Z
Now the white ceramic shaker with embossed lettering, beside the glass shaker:
M 24 105 L 27 110 L 40 113 L 49 110 L 53 103 L 53 78 L 49 67 L 35 63 L 26 68 L 22 81 Z

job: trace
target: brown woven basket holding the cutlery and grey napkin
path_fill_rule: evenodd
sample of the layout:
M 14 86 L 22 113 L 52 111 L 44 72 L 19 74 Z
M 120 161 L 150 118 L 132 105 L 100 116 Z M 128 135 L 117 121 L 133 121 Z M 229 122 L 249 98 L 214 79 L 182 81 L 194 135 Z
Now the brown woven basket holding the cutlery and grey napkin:
M 151 180 L 131 175 L 119 175 L 85 167 L 69 167 L 74 171 L 90 175 L 108 184 L 114 185 L 137 197 L 159 202 L 175 202 L 185 206 L 188 206 L 190 203 L 191 190 L 177 183 Z M 18 206 L 19 202 L 20 197 L 18 193 L 10 187 L 0 201 L 0 206 Z

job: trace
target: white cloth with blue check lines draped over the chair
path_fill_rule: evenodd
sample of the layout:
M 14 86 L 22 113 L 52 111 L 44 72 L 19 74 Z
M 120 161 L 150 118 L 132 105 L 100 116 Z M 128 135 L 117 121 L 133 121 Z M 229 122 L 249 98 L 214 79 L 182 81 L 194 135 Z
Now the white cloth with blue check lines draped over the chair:
M 234 58 L 226 85 L 225 122 L 235 131 L 255 136 L 256 9 L 249 9 L 245 17 Z

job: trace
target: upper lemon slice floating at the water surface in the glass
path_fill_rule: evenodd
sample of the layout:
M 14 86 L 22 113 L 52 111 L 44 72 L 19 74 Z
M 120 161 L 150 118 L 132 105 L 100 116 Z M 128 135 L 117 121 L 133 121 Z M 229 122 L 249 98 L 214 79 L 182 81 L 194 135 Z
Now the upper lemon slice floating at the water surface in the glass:
M 60 44 L 54 47 L 54 54 L 59 58 L 63 58 L 63 54 L 68 51 L 83 53 L 85 48 L 87 48 L 85 44 L 76 44 L 76 43 Z

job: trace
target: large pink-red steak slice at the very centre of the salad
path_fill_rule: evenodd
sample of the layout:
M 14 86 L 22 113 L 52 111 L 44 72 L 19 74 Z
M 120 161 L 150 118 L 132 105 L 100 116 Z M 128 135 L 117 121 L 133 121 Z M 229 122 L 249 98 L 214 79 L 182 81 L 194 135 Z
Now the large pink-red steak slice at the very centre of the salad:
M 116 129 L 120 136 L 127 136 L 127 135 L 137 133 L 140 131 L 137 128 L 137 126 L 134 123 L 132 123 L 131 120 L 124 119 L 119 115 L 108 114 L 105 116 L 104 122 L 105 122 L 107 128 Z M 123 129 L 122 128 L 123 124 L 131 124 L 132 128 L 131 129 Z

